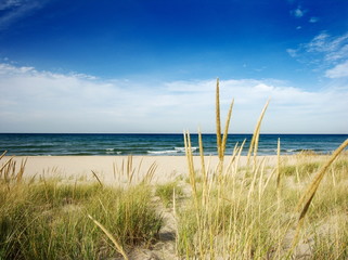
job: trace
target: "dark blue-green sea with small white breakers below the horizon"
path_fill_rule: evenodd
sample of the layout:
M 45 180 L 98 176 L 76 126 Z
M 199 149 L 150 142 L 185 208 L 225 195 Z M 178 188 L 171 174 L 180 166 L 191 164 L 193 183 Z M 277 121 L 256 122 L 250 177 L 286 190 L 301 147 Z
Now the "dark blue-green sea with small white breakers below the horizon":
M 252 134 L 229 134 L 227 155 L 236 144 L 246 140 L 242 155 L 246 155 Z M 204 154 L 217 155 L 216 134 L 203 134 Z M 260 134 L 259 155 L 276 155 L 278 139 L 281 154 L 292 155 L 301 151 L 330 154 L 348 134 Z M 193 154 L 198 155 L 198 135 L 191 134 Z M 0 153 L 17 156 L 78 156 L 78 155 L 184 155 L 183 134 L 167 133 L 0 133 Z

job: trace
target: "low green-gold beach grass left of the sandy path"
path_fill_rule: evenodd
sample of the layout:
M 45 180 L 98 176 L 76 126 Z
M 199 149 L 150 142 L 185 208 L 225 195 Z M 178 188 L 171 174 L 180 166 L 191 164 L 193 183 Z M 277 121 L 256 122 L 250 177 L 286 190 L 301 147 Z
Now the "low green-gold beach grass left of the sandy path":
M 41 179 L 0 184 L 0 259 L 105 259 L 119 256 L 88 216 L 125 250 L 157 239 L 163 218 L 152 188 L 115 188 Z

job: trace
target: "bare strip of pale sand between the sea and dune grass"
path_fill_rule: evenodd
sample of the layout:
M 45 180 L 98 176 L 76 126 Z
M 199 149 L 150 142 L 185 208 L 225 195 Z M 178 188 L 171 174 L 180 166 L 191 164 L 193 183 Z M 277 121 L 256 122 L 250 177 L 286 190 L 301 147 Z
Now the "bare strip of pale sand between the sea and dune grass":
M 7 156 L 3 161 L 11 157 Z M 262 156 L 258 159 L 266 159 L 268 165 L 276 162 L 276 156 Z M 34 176 L 44 178 L 61 177 L 66 179 L 86 178 L 93 179 L 95 172 L 101 180 L 108 183 L 120 180 L 119 174 L 127 172 L 128 156 L 16 156 L 13 158 L 17 166 L 21 161 L 27 159 L 25 166 L 25 177 Z M 152 165 L 155 164 L 154 182 L 165 182 L 172 180 L 178 176 L 188 173 L 188 161 L 185 156 L 132 156 L 131 169 L 134 171 L 134 178 L 141 180 Z M 231 156 L 225 157 L 229 164 Z M 214 169 L 217 166 L 217 156 L 205 157 L 206 167 Z M 241 156 L 240 165 L 246 164 L 246 156 Z M 199 170 L 201 157 L 194 157 L 196 170 Z

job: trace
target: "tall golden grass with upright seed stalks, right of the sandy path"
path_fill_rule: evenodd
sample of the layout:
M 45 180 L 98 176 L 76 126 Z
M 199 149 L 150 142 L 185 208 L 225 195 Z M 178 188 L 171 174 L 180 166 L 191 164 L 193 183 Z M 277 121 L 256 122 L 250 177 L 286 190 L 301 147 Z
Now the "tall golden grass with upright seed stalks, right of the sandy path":
M 186 259 L 288 259 L 304 258 L 345 259 L 348 256 L 347 232 L 335 230 L 323 233 L 325 219 L 337 216 L 347 226 L 348 193 L 347 168 L 332 166 L 348 145 L 346 141 L 323 166 L 321 162 L 295 162 L 294 168 L 283 166 L 278 146 L 278 164 L 268 166 L 266 158 L 257 155 L 261 121 L 268 103 L 256 123 L 249 145 L 246 168 L 240 167 L 244 143 L 236 146 L 229 162 L 224 145 L 230 123 L 228 113 L 223 140 L 221 139 L 219 81 L 216 95 L 217 151 L 219 162 L 212 169 L 193 165 L 190 133 L 184 133 L 191 199 L 178 211 L 178 251 Z M 233 104 L 233 102 L 232 102 Z M 199 133 L 199 150 L 204 144 Z M 346 160 L 344 160 L 346 161 Z M 201 168 L 201 176 L 197 176 Z M 312 172 L 319 173 L 312 179 Z M 314 199 L 322 183 L 323 195 Z M 300 173 L 298 173 L 300 172 Z M 297 173 L 300 183 L 293 183 Z M 340 180 L 339 183 L 337 180 Z M 203 179 L 203 182 L 197 180 Z M 334 184 L 334 185 L 333 185 Z M 304 186 L 308 185 L 307 192 Z M 330 192 L 334 190 L 335 192 Z M 300 198 L 300 194 L 304 194 Z M 335 202 L 335 204 L 334 204 Z M 310 207 L 314 203 L 313 207 Z M 296 210 L 296 204 L 301 209 Z M 302 206 L 304 205 L 304 206 Z M 310 210 L 309 210 L 310 209 Z M 305 224 L 305 217 L 308 223 Z

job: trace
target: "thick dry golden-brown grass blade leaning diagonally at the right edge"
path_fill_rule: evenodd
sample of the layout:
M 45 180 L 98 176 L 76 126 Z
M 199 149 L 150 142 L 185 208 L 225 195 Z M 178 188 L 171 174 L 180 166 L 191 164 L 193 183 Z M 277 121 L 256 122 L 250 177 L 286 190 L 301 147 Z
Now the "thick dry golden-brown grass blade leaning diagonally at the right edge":
M 307 191 L 305 192 L 305 194 L 301 196 L 301 198 L 299 199 L 297 207 L 296 207 L 296 211 L 299 211 L 300 208 L 302 208 L 299 218 L 298 218 L 298 223 L 296 226 L 296 233 L 295 236 L 293 238 L 293 243 L 292 243 L 292 247 L 289 250 L 289 253 L 294 250 L 295 246 L 298 243 L 298 237 L 299 237 L 299 231 L 302 226 L 304 223 L 304 219 L 306 217 L 306 213 L 308 212 L 308 208 L 310 206 L 310 203 L 312 202 L 315 192 L 319 187 L 319 184 L 321 182 L 321 180 L 323 179 L 327 168 L 332 165 L 332 162 L 337 158 L 337 156 L 348 146 L 348 139 L 333 153 L 333 155 L 331 156 L 331 158 L 326 161 L 326 164 L 320 169 L 320 171 L 318 172 L 318 174 L 314 177 L 313 181 L 310 183 L 309 187 L 307 188 Z

